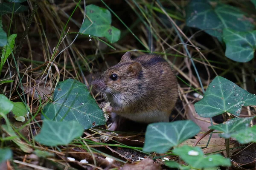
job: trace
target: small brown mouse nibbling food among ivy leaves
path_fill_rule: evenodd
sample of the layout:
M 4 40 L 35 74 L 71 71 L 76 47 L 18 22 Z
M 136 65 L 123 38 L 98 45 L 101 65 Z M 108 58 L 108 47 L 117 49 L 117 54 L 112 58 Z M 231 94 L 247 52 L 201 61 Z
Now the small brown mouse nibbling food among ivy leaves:
M 126 52 L 117 65 L 108 68 L 92 82 L 111 102 L 116 130 L 123 118 L 135 122 L 168 122 L 178 97 L 177 79 L 169 64 L 159 55 L 131 59 Z

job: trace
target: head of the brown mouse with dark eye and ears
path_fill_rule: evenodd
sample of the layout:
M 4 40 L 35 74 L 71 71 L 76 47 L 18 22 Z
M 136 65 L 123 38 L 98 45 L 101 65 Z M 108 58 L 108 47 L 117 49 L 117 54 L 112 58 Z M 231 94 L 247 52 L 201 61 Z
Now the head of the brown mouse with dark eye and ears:
M 116 94 L 132 91 L 142 77 L 142 65 L 131 59 L 131 52 L 126 52 L 117 65 L 108 68 L 92 82 L 96 91 Z

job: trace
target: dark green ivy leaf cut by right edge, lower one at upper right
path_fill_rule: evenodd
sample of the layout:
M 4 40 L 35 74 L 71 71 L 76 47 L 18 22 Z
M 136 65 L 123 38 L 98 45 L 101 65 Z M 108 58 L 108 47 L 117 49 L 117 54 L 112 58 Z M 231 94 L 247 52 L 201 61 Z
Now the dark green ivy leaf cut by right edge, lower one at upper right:
M 224 29 L 223 40 L 226 43 L 225 55 L 237 62 L 248 62 L 254 57 L 256 49 L 256 31 L 240 32 Z

